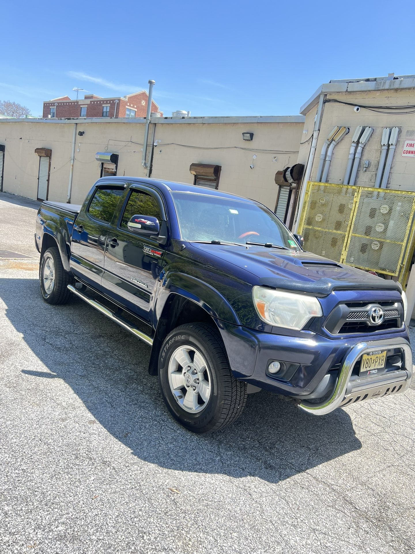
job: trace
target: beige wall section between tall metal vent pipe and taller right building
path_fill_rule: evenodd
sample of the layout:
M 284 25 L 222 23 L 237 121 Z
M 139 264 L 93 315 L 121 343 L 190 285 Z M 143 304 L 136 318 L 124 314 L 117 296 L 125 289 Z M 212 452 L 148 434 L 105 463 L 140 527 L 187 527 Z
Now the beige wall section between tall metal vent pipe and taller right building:
M 253 132 L 252 142 L 242 140 L 243 131 Z M 278 189 L 275 174 L 297 162 L 302 131 L 302 123 L 159 124 L 155 140 L 161 142 L 154 149 L 152 177 L 193 183 L 191 163 L 220 165 L 220 190 L 254 198 L 274 209 Z M 258 152 L 261 149 L 269 152 Z

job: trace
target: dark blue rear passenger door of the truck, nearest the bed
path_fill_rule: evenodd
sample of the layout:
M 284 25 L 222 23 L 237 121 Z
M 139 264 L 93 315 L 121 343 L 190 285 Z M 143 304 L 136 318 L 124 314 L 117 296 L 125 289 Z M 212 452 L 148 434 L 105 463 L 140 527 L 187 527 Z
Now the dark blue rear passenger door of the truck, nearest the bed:
M 98 184 L 86 198 L 72 231 L 72 272 L 82 282 L 99 291 L 105 242 L 125 187 L 125 183 Z

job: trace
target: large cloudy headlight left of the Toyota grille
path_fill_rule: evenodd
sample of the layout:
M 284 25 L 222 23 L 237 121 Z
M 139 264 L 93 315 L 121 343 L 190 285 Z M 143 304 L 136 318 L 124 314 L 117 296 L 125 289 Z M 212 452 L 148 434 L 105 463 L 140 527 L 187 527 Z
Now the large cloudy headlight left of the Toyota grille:
M 257 314 L 269 325 L 300 330 L 312 317 L 323 315 L 314 296 L 254 286 L 252 297 Z

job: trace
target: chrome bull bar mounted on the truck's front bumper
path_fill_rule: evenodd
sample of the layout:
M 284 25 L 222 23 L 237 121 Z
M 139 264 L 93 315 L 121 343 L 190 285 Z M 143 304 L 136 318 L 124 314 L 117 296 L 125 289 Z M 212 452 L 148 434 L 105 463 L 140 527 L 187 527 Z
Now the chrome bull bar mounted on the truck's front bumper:
M 350 390 L 350 377 L 355 363 L 365 353 L 372 350 L 388 350 L 389 348 L 400 348 L 402 351 L 402 371 L 383 373 L 376 379 L 371 379 L 369 386 L 362 386 L 362 379 L 357 379 L 357 386 Z M 405 376 L 406 373 L 406 376 Z M 314 416 L 324 416 L 333 412 L 341 405 L 352 403 L 353 401 L 377 398 L 386 394 L 396 394 L 405 391 L 412 381 L 412 350 L 409 342 L 398 337 L 386 338 L 385 340 L 359 342 L 352 347 L 344 357 L 337 383 L 330 397 L 320 403 L 302 401 L 298 407 L 303 412 L 308 412 Z M 392 388 L 396 387 L 393 391 Z M 349 387 L 349 389 L 348 389 Z M 388 389 L 389 387 L 389 389 Z M 392 392 L 391 392 L 392 391 Z M 359 394 L 357 394 L 359 392 Z

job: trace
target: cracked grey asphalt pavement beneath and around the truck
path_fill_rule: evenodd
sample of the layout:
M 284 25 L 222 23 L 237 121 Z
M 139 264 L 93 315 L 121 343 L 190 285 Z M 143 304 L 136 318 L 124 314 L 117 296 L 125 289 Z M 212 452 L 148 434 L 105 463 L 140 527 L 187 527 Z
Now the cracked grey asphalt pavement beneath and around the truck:
M 413 388 L 324 417 L 262 391 L 191 434 L 149 347 L 43 302 L 37 207 L 0 194 L 2 554 L 414 552 Z

